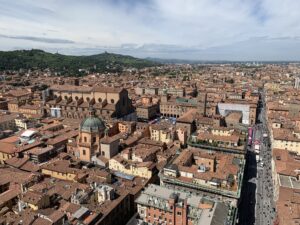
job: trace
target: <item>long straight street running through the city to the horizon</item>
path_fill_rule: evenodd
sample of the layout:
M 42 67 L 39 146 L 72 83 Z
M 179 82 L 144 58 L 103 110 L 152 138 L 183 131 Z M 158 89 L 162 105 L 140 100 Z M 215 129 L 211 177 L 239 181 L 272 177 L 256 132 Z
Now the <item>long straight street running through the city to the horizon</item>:
M 271 225 L 275 217 L 273 210 L 273 182 L 271 173 L 271 148 L 265 118 L 264 96 L 258 108 L 258 124 L 254 128 L 254 138 L 260 142 L 260 161 L 256 161 L 254 144 L 248 147 L 244 184 L 239 204 L 239 222 L 242 225 Z M 261 162 L 263 164 L 261 164 Z

